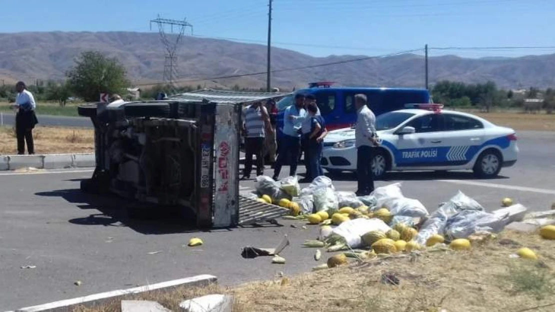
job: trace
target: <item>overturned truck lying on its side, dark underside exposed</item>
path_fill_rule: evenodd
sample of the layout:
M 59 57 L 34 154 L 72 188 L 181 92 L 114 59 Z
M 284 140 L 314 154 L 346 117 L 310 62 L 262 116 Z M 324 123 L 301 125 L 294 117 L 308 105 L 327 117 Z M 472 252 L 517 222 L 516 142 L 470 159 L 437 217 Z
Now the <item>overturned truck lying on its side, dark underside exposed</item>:
M 189 209 L 199 227 L 273 221 L 286 211 L 239 195 L 241 110 L 284 95 L 199 90 L 79 106 L 94 125 L 96 158 L 81 190 Z

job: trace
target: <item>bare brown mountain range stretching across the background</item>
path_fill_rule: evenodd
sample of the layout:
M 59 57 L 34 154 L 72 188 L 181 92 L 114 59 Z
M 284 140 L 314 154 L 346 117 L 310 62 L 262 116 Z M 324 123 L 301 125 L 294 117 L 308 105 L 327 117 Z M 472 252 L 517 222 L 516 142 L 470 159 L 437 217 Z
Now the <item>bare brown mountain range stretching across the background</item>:
M 137 32 L 35 32 L 0 33 L 0 80 L 61 80 L 85 50 L 98 50 L 116 57 L 137 85 L 162 81 L 164 47 L 157 33 Z M 221 76 L 260 73 L 266 70 L 266 46 L 229 40 L 184 37 L 178 48 L 178 77 L 182 84 L 240 85 L 260 88 L 266 75 L 228 79 Z M 284 89 L 306 86 L 310 81 L 331 80 L 345 86 L 423 87 L 425 62 L 422 55 L 352 59 L 365 55 L 312 57 L 293 50 L 273 48 L 272 85 Z M 339 63 L 305 68 L 324 63 Z M 430 83 L 440 80 L 484 83 L 492 80 L 502 88 L 547 88 L 555 86 L 555 54 L 518 58 L 430 57 Z M 1 81 L 0 81 L 1 83 Z

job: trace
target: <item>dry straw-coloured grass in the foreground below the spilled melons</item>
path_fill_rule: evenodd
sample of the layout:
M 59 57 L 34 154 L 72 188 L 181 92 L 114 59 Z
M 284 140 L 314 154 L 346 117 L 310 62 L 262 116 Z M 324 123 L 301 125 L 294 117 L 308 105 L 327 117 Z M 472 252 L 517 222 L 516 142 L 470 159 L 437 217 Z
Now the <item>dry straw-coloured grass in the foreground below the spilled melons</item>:
M 518 245 L 502 242 L 536 250 L 539 261 L 509 257 Z M 234 295 L 234 311 L 553 311 L 554 264 L 555 241 L 506 232 L 468 252 L 377 258 L 235 288 L 179 289 L 134 298 L 155 300 L 174 311 L 181 300 L 216 292 Z M 380 282 L 384 273 L 398 277 L 400 285 Z M 119 301 L 74 311 L 115 312 Z

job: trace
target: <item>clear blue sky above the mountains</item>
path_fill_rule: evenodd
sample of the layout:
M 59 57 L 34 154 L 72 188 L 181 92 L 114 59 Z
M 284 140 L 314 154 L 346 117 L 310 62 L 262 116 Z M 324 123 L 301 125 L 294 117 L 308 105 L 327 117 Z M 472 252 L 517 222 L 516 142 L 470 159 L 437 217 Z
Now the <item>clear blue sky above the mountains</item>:
M 384 55 L 426 43 L 555 46 L 555 0 L 274 0 L 273 6 L 273 45 L 315 56 Z M 160 14 L 186 17 L 195 35 L 265 43 L 268 23 L 268 0 L 3 0 L 2 11 L 0 33 L 157 32 L 149 20 Z M 555 49 L 430 51 L 465 57 L 548 53 Z

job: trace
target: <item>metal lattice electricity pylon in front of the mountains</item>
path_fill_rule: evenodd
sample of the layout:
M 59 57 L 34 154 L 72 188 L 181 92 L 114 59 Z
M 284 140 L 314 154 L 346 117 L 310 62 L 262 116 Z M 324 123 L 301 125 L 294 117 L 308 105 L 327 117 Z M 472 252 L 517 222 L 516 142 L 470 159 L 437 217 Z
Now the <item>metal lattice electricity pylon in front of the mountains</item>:
M 165 58 L 164 58 L 164 83 L 169 85 L 171 88 L 171 93 L 175 93 L 175 84 L 174 80 L 177 78 L 177 57 L 175 55 L 179 42 L 183 35 L 185 34 L 185 28 L 191 28 L 191 34 L 193 33 L 193 25 L 189 24 L 188 22 L 183 19 L 183 21 L 179 21 L 176 19 L 165 19 L 160 18 L 158 16 L 157 19 L 153 19 L 150 21 L 150 29 L 152 30 L 152 23 L 158 24 L 158 31 L 160 33 L 160 39 L 164 44 Z M 171 33 L 173 34 L 173 27 L 176 26 L 178 28 L 177 37 L 175 40 L 170 41 L 168 36 L 166 35 L 164 26 L 169 25 L 171 29 Z

